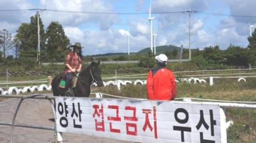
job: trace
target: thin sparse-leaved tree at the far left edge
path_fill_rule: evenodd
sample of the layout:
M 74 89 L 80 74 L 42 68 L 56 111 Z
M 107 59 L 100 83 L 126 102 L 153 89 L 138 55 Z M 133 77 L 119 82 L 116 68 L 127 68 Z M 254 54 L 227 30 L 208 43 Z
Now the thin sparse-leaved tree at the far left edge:
M 12 49 L 12 35 L 8 32 L 8 30 L 3 29 L 0 31 L 0 41 L 4 58 L 6 58 L 6 52 Z

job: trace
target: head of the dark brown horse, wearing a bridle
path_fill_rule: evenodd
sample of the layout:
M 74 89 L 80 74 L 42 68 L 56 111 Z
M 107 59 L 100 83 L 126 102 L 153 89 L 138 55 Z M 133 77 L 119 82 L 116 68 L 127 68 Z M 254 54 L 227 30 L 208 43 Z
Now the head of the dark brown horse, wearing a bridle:
M 91 69 L 91 76 L 94 82 L 97 83 L 98 86 L 102 86 L 103 82 L 100 76 L 99 64 L 100 64 L 100 61 L 98 61 L 97 63 L 93 61 L 90 65 L 91 66 L 90 69 Z

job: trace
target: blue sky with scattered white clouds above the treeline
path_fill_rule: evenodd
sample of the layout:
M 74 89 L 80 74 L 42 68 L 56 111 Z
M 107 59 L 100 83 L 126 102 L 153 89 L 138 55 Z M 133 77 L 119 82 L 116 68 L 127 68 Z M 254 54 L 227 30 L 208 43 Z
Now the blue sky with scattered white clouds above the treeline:
M 254 0 L 152 0 L 156 45 L 183 44 L 188 47 L 188 13 L 154 13 L 188 11 L 190 8 L 198 11 L 190 17 L 192 49 L 210 45 L 227 49 L 229 44 L 246 47 L 248 23 L 254 25 L 256 22 L 255 5 Z M 127 52 L 128 34 L 131 35 L 130 52 L 138 52 L 151 45 L 150 22 L 147 20 L 150 0 L 1 0 L 0 3 L 0 10 L 36 8 L 47 9 L 40 12 L 44 28 L 51 21 L 58 21 L 72 44 L 82 44 L 83 55 Z M 30 16 L 34 14 L 35 11 L 0 11 L 0 29 L 7 29 L 14 36 L 21 23 L 30 22 Z

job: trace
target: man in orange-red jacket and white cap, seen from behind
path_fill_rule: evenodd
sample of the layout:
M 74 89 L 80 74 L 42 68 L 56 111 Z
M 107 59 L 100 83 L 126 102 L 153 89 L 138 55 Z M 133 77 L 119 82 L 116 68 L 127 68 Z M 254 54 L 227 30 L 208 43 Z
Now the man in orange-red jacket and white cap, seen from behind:
M 176 83 L 173 72 L 166 68 L 167 56 L 156 56 L 158 66 L 152 68 L 147 75 L 148 100 L 174 100 Z

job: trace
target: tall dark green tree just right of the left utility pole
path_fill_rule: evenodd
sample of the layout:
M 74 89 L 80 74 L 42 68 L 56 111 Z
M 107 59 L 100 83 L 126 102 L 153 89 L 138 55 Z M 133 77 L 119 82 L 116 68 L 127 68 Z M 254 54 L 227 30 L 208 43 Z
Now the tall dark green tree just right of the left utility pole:
M 52 21 L 46 30 L 46 59 L 52 62 L 63 61 L 70 51 L 70 40 L 62 26 Z

